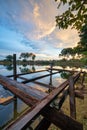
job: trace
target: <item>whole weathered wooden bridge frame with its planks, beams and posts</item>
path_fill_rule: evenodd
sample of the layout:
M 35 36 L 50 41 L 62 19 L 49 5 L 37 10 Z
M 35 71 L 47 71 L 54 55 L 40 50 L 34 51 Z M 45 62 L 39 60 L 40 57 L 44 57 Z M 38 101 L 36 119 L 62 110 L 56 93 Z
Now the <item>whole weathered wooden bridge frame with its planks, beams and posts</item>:
M 45 70 L 31 72 L 39 73 L 48 71 L 49 74 L 27 79 L 23 76 L 31 73 L 17 74 L 15 63 L 16 62 L 14 62 L 14 74 L 8 77 L 0 75 L 0 84 L 3 85 L 5 89 L 11 91 L 15 95 L 15 98 L 18 97 L 24 101 L 29 106 L 29 109 L 20 117 L 15 119 L 15 121 L 9 123 L 9 125 L 5 127 L 5 130 L 26 130 L 26 128 L 30 126 L 32 121 L 34 121 L 38 115 L 42 115 L 43 118 L 36 126 L 35 130 L 47 130 L 51 123 L 55 124 L 61 130 L 83 130 L 83 124 L 76 121 L 75 97 L 83 99 L 84 96 L 80 92 L 76 91 L 75 83 L 82 75 L 81 85 L 83 87 L 85 73 L 72 73 L 71 71 L 72 76 L 70 76 L 68 80 L 64 81 L 61 85 L 54 87 L 52 85 L 38 82 L 37 80 L 47 76 L 52 78 L 52 75 L 59 73 L 62 70 L 48 68 Z M 56 71 L 53 72 L 53 70 Z M 11 79 L 12 77 L 14 80 Z M 22 79 L 23 81 L 18 82 L 18 78 Z M 26 83 L 29 82 L 35 82 L 36 84 L 44 85 L 49 89 L 49 93 L 42 92 L 41 90 L 26 85 Z M 62 96 L 59 99 L 58 95 L 60 93 Z M 69 95 L 70 100 L 70 116 L 67 116 L 61 112 L 62 104 L 64 103 L 67 95 Z M 55 108 L 55 105 L 51 105 L 55 99 L 58 99 L 58 108 Z

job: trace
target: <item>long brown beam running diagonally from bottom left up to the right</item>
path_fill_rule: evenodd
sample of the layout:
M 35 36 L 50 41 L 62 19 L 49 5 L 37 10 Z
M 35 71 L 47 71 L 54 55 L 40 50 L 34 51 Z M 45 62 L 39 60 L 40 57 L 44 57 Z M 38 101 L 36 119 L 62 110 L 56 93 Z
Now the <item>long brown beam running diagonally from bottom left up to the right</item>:
M 74 75 L 74 78 L 78 76 L 79 73 Z M 8 130 L 21 130 L 27 123 L 29 123 L 41 110 L 50 104 L 61 91 L 63 91 L 68 85 L 68 80 L 63 82 L 57 88 L 55 88 L 46 98 L 41 102 L 37 103 L 36 106 L 31 108 L 24 116 L 19 117 L 15 122 L 9 124 Z

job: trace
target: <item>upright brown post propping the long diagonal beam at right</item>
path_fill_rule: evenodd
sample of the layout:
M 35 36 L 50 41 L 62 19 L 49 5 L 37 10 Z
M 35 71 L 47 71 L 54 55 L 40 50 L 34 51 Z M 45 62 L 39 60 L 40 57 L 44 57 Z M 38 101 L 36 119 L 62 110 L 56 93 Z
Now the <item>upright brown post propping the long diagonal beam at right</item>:
M 75 103 L 75 92 L 74 92 L 74 80 L 73 77 L 69 77 L 69 100 L 70 100 L 70 116 L 76 119 L 76 103 Z

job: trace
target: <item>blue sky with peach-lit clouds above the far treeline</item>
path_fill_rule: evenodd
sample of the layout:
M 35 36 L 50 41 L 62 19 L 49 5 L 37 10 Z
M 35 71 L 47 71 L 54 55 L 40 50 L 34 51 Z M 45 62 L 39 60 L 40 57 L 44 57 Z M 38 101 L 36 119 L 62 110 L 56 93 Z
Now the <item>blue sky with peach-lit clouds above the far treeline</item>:
M 63 48 L 79 41 L 76 30 L 56 27 L 55 0 L 0 0 L 0 59 L 21 52 L 36 54 L 37 60 L 55 60 Z

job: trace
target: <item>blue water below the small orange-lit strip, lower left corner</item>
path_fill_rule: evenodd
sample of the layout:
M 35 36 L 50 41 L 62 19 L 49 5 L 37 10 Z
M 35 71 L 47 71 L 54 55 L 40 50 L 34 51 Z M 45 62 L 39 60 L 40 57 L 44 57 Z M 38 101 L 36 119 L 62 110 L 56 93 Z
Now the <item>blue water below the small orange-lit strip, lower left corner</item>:
M 0 129 L 2 130 L 27 109 L 28 106 L 18 98 L 5 106 L 0 105 Z

